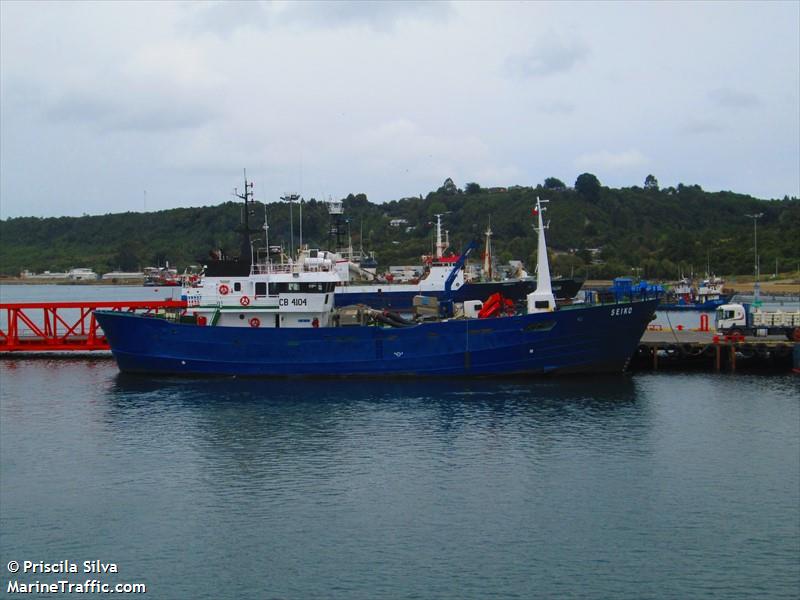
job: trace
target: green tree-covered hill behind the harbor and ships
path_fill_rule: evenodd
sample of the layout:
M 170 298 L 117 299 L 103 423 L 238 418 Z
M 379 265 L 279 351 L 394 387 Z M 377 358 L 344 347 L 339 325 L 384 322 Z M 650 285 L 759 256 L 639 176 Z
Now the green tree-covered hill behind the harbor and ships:
M 432 250 L 436 214 L 444 214 L 455 252 L 481 237 L 491 221 L 495 255 L 502 262 L 535 264 L 531 209 L 537 196 L 550 200 L 548 245 L 553 271 L 610 278 L 639 274 L 676 278 L 702 273 L 752 274 L 753 219 L 758 219 L 761 270 L 795 271 L 800 264 L 800 200 L 760 200 L 734 192 L 706 192 L 697 185 L 659 188 L 649 175 L 642 187 L 609 188 L 590 173 L 573 187 L 547 178 L 536 187 L 484 188 L 450 179 L 425 197 L 373 204 L 364 194 L 344 198 L 353 245 L 375 253 L 382 267 L 419 264 Z M 179 269 L 202 263 L 212 248 L 236 252 L 242 206 L 180 208 L 152 213 L 0 221 L 0 273 L 91 267 L 99 273 L 139 270 L 169 261 Z M 289 247 L 289 205 L 266 206 L 269 242 Z M 264 206 L 256 204 L 260 225 Z M 401 226 L 392 220 L 405 219 Z M 294 205 L 295 242 L 298 206 Z M 303 241 L 328 248 L 327 204 L 303 203 Z M 363 232 L 363 239 L 362 237 Z M 261 245 L 263 245 L 262 234 Z

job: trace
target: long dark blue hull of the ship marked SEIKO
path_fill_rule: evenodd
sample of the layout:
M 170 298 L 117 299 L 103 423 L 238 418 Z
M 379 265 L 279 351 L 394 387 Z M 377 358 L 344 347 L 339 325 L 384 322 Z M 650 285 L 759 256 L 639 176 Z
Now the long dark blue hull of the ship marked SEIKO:
M 405 328 L 201 327 L 96 312 L 121 371 L 173 375 L 381 376 L 620 372 L 656 300 Z

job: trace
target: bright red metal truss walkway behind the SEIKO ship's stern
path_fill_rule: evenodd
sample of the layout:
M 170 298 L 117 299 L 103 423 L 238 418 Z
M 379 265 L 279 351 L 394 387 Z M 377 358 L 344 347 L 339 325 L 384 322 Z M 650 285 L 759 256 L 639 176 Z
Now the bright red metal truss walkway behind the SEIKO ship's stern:
M 0 303 L 0 352 L 109 350 L 95 310 L 158 313 L 182 300 Z

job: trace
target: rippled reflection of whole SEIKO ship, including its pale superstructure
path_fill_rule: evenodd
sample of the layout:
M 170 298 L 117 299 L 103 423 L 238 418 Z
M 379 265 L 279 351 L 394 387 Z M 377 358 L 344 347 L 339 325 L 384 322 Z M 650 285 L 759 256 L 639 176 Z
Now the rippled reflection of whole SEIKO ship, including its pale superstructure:
M 496 448 L 524 437 L 537 454 L 574 444 L 586 432 L 592 443 L 624 439 L 633 451 L 651 430 L 648 403 L 639 401 L 637 387 L 625 375 L 558 381 L 343 378 L 331 385 L 314 379 L 265 383 L 119 374 L 101 404 L 104 427 L 122 444 L 163 442 L 165 431 L 177 433 L 176 443 L 199 453 L 208 472 L 225 473 L 234 482 L 245 473 L 248 485 L 265 482 L 261 489 L 274 500 L 304 481 L 319 490 L 339 478 L 335 465 L 352 469 L 356 447 L 378 456 L 406 446 L 413 460 L 434 439 L 466 435 L 473 444 L 491 441 Z M 365 464 L 370 459 L 367 453 Z M 281 489 L 279 482 L 290 473 L 292 485 Z

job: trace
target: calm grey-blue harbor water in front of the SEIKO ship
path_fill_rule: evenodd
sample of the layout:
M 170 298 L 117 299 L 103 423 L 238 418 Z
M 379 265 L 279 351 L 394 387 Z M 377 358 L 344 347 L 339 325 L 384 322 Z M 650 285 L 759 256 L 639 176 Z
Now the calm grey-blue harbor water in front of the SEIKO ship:
M 95 559 L 119 573 L 6 567 Z M 96 578 L 168 599 L 797 598 L 800 379 L 4 359 L 0 572 L 4 592 Z

